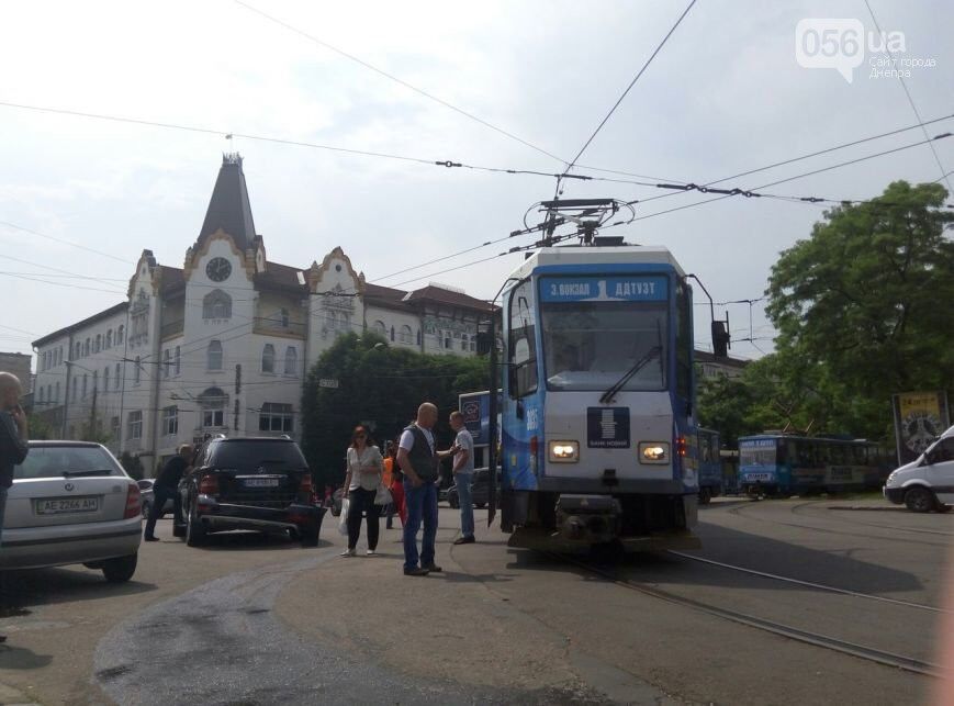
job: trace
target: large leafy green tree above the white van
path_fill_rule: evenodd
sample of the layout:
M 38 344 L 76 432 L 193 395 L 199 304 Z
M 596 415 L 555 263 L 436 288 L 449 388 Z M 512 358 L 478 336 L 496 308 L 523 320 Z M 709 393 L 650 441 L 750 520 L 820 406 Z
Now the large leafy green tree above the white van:
M 815 432 L 890 436 L 890 396 L 954 380 L 954 244 L 936 183 L 826 212 L 772 268 L 766 312 L 789 412 Z

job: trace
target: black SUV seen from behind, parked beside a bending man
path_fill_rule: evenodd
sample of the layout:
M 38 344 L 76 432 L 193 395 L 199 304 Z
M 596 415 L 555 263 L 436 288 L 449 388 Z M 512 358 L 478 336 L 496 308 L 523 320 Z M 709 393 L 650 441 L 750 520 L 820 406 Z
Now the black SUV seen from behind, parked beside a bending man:
M 325 509 L 315 502 L 299 445 L 288 437 L 210 439 L 179 494 L 183 523 L 173 531 L 190 547 L 231 529 L 289 531 L 303 546 L 318 543 Z

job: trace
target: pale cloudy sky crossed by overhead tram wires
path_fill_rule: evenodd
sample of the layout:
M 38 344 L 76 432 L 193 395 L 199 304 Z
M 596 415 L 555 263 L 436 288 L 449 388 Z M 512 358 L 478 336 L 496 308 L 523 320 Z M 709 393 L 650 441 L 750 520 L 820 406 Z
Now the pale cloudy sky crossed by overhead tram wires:
M 894 48 L 901 37 L 904 53 L 896 57 L 933 60 L 906 80 L 921 119 L 954 113 L 947 32 L 954 5 L 868 1 L 882 30 L 901 33 Z M 270 259 L 306 267 L 341 245 L 369 281 L 405 289 L 435 281 L 492 296 L 521 256 L 447 270 L 530 237 L 392 274 L 521 227 L 525 212 L 553 195 L 552 178 L 251 137 L 229 145 L 221 133 L 553 173 L 563 165 L 543 153 L 569 160 L 580 150 L 686 5 L 247 2 L 0 4 L 0 102 L 212 131 L 0 105 L 0 350 L 30 352 L 31 340 L 121 301 L 143 248 L 181 267 L 228 149 L 245 157 Z M 866 33 L 875 30 L 864 0 L 698 0 L 580 163 L 650 178 L 619 179 L 706 183 L 917 124 L 900 82 L 869 76 L 871 60 L 880 56 L 871 48 L 856 55 L 863 63 L 851 82 L 833 68 L 798 64 L 796 25 L 812 18 L 855 19 Z M 954 120 L 927 131 L 954 131 Z M 920 128 L 911 130 L 723 186 L 754 189 L 923 139 Z M 954 138 L 938 141 L 936 152 L 954 169 Z M 896 179 L 941 175 L 922 145 L 766 191 L 865 199 Z M 570 181 L 563 197 L 630 201 L 661 193 L 667 192 Z M 671 248 L 717 301 L 760 298 L 778 253 L 806 237 L 823 211 L 736 197 L 660 213 L 705 199 L 677 193 L 638 204 L 640 220 L 615 232 Z M 732 304 L 729 314 L 734 336 L 749 338 L 749 306 Z M 761 303 L 751 314 L 756 340 L 737 343 L 733 352 L 756 358 L 771 349 L 772 328 Z M 707 328 L 699 309 L 700 347 Z

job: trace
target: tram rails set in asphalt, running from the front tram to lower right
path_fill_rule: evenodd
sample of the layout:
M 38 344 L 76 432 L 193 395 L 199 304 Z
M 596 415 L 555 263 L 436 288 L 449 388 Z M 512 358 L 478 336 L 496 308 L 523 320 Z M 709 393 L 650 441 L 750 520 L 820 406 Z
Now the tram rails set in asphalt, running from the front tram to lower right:
M 558 559 L 560 561 L 564 561 L 575 565 L 576 568 L 584 570 L 588 573 L 598 575 L 606 581 L 618 585 L 628 591 L 635 591 L 637 593 L 641 593 L 643 595 L 651 596 L 653 598 L 664 601 L 670 604 L 678 605 L 682 607 L 691 608 L 693 610 L 697 610 L 699 613 L 704 613 L 706 615 L 710 615 L 714 617 L 718 617 L 725 620 L 729 620 L 731 623 L 736 623 L 739 625 L 744 625 L 757 630 L 762 630 L 765 632 L 771 632 L 773 635 L 777 635 L 779 637 L 785 637 L 798 642 L 803 642 L 806 645 L 811 645 L 815 647 L 832 650 L 834 652 L 839 652 L 842 654 L 848 654 L 851 657 L 855 657 L 857 659 L 866 660 L 869 662 L 876 662 L 878 664 L 890 666 L 894 669 L 904 670 L 906 672 L 911 672 L 914 674 L 920 674 L 923 676 L 932 676 L 932 677 L 941 677 L 945 676 L 945 670 L 932 662 L 919 660 L 916 658 L 897 654 L 895 652 L 889 652 L 886 650 L 880 650 L 877 648 L 868 647 L 865 645 L 860 645 L 856 642 L 852 642 L 850 640 L 844 640 L 838 637 L 833 637 L 830 635 L 824 635 L 821 632 L 816 632 L 812 630 L 805 630 L 801 628 L 797 628 L 790 625 L 786 625 L 783 623 L 778 623 L 776 620 L 771 620 L 766 618 L 761 618 L 755 615 L 751 615 L 748 613 L 742 613 L 739 610 L 733 610 L 731 608 L 723 608 L 721 606 L 712 605 L 711 603 L 707 603 L 704 601 L 698 601 L 695 598 L 689 598 L 687 596 L 682 596 L 671 591 L 666 591 L 664 589 L 660 589 L 653 584 L 646 583 L 643 581 L 637 581 L 632 579 L 625 579 L 618 576 L 610 569 L 599 567 L 596 564 L 591 564 L 585 561 L 581 561 L 575 557 L 566 557 L 560 554 L 553 554 L 551 552 L 545 552 L 553 559 Z M 670 552 L 676 553 L 676 556 L 681 556 L 678 552 Z M 691 557 L 692 558 L 692 557 Z M 718 563 L 718 562 L 715 562 Z M 741 569 L 741 568 L 737 568 Z M 747 571 L 748 573 L 748 571 Z M 761 572 L 754 572 L 761 573 Z M 774 576 L 773 576 L 774 578 Z M 782 579 L 782 578 L 779 578 Z M 800 582 L 798 580 L 793 580 L 796 583 L 808 583 Z M 816 584 L 820 586 L 821 584 Z M 837 591 L 841 593 L 841 591 Z M 846 592 L 849 594 L 853 594 L 853 592 Z M 855 597 L 877 597 L 877 596 L 868 596 L 867 594 L 854 594 Z M 908 607 L 920 608 L 920 609 L 932 609 L 936 612 L 941 612 L 940 608 L 933 608 L 931 606 L 923 606 L 921 604 L 906 604 L 906 602 L 895 602 L 893 599 L 888 599 L 894 603 L 905 604 Z

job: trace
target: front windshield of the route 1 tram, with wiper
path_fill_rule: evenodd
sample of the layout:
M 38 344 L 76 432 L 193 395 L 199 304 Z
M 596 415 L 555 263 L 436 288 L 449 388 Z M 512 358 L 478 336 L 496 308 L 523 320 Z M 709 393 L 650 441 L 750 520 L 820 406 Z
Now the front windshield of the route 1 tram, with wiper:
M 620 389 L 666 388 L 665 302 L 545 302 L 542 324 L 548 390 L 605 391 L 646 357 Z

